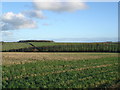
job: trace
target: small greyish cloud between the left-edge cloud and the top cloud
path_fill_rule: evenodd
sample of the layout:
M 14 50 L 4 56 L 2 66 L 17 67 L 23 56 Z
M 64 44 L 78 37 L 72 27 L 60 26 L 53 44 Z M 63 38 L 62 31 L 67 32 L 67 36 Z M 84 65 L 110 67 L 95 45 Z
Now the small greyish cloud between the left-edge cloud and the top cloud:
M 23 14 L 31 17 L 31 18 L 39 18 L 39 19 L 44 19 L 45 16 L 43 15 L 42 11 L 40 10 L 31 10 L 31 11 L 25 11 Z

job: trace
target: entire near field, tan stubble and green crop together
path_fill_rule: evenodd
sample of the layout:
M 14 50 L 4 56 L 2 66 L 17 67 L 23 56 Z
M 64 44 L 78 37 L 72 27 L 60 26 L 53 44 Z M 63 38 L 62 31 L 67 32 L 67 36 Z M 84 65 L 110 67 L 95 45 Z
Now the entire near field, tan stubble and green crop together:
M 2 88 L 118 88 L 118 53 L 3 52 Z

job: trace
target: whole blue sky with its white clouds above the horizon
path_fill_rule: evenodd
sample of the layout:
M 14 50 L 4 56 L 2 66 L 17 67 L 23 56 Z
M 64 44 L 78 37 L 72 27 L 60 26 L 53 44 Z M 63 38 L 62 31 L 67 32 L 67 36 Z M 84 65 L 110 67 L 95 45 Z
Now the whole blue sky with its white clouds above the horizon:
M 2 41 L 118 39 L 117 2 L 3 2 Z

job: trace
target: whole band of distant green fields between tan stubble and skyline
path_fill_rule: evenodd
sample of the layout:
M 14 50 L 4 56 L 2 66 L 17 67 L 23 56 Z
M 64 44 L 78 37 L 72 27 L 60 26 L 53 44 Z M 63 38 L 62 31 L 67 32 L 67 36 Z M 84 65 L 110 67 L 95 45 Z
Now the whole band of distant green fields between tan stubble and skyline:
M 119 52 L 118 43 L 4 42 L 3 52 Z

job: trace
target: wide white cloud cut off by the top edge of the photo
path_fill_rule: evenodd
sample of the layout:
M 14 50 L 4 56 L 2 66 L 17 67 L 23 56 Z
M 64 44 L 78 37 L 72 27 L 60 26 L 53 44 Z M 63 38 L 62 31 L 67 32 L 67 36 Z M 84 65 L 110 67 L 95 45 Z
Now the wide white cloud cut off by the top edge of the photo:
M 38 10 L 49 10 L 56 12 L 72 12 L 76 10 L 86 9 L 87 6 L 83 2 L 56 2 L 56 0 L 33 0 L 34 6 Z M 79 1 L 79 0 L 76 0 Z

